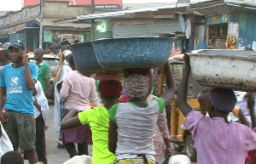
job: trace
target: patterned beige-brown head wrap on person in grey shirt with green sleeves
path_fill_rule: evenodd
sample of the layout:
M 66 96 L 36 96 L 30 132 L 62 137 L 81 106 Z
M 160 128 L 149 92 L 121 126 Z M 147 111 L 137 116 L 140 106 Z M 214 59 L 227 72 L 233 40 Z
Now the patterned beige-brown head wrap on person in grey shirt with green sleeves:
M 148 94 L 150 79 L 148 76 L 133 74 L 125 76 L 125 89 L 130 98 L 141 98 Z

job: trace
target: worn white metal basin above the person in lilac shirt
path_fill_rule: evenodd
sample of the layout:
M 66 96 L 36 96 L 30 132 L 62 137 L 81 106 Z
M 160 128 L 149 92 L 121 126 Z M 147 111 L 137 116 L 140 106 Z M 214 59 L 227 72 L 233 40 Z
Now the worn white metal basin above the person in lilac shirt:
M 191 72 L 202 86 L 256 91 L 256 52 L 203 49 L 187 53 Z

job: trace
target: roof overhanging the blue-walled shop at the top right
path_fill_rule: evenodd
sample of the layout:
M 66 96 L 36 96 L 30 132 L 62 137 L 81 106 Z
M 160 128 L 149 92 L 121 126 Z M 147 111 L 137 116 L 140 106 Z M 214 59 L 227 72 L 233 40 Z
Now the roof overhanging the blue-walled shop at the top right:
M 190 8 L 206 17 L 230 13 L 256 14 L 256 6 L 251 3 L 236 3 L 234 1 L 225 0 L 195 3 L 191 4 Z

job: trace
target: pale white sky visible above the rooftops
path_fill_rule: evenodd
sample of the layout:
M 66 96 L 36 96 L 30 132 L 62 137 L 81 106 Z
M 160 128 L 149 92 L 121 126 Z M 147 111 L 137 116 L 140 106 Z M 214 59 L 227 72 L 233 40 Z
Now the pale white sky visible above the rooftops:
M 123 0 L 123 3 L 171 3 L 177 0 Z M 20 10 L 22 0 L 0 0 L 0 11 Z

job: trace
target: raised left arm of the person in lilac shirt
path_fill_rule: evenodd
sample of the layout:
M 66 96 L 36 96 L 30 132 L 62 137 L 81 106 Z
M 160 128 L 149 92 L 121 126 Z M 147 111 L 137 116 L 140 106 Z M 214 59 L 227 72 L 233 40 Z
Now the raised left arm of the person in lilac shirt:
M 192 109 L 192 107 L 187 102 L 187 92 L 188 92 L 188 82 L 189 82 L 189 73 L 191 70 L 189 64 L 189 56 L 184 55 L 184 72 L 183 72 L 183 79 L 180 83 L 180 86 L 177 91 L 177 105 L 179 109 L 182 111 L 183 115 L 186 117 Z

